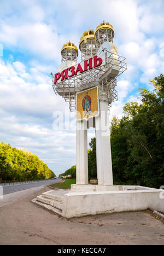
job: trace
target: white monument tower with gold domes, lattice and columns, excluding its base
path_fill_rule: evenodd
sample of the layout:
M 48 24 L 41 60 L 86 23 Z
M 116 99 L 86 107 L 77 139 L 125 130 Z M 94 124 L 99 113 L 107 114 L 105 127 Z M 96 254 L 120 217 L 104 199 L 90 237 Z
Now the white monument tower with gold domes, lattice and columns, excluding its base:
M 92 120 L 77 120 L 77 185 L 87 185 L 88 165 L 87 165 L 87 128 L 95 127 L 96 130 L 96 154 L 97 154 L 97 178 L 99 185 L 113 185 L 112 156 L 110 149 L 110 129 L 108 108 L 112 101 L 117 100 L 115 90 L 116 77 L 126 70 L 125 58 L 118 55 L 118 49 L 113 44 L 114 31 L 112 25 L 103 22 L 98 25 L 96 31 L 85 31 L 81 38 L 79 48 L 81 51 L 81 67 L 84 69 L 84 62 L 95 56 L 101 57 L 102 64 L 97 68 L 91 68 L 84 73 L 71 75 L 71 66 L 77 69 L 77 47 L 69 41 L 63 45 L 61 55 L 62 63 L 57 72 L 65 72 L 68 68 L 68 79 L 63 79 L 60 74 L 52 83 L 56 94 L 61 95 L 69 102 L 71 110 L 75 108 L 76 93 L 97 86 L 99 98 L 99 115 Z M 69 51 L 69 59 L 66 52 Z M 73 57 L 71 55 L 73 53 Z M 92 60 L 93 62 L 93 60 Z M 70 69 L 69 69 L 70 67 Z M 53 77 L 54 79 L 54 77 Z

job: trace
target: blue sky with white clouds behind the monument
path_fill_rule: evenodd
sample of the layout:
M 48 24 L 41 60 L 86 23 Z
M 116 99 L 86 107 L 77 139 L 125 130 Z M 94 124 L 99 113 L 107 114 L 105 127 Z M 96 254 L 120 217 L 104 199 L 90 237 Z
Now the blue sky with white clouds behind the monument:
M 81 34 L 103 20 L 113 25 L 128 67 L 110 109 L 120 118 L 137 89 L 151 89 L 149 79 L 163 73 L 163 13 L 163 0 L 1 0 L 0 141 L 37 154 L 56 174 L 74 165 L 75 131 L 53 128 L 53 113 L 68 107 L 51 86 L 62 45 L 79 46 Z

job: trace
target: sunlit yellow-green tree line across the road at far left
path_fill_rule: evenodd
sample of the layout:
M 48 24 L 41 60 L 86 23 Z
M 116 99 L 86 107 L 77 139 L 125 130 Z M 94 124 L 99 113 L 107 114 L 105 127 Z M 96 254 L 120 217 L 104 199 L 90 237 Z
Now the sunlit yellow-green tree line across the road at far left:
M 37 155 L 0 143 L 1 181 L 49 179 L 55 174 Z

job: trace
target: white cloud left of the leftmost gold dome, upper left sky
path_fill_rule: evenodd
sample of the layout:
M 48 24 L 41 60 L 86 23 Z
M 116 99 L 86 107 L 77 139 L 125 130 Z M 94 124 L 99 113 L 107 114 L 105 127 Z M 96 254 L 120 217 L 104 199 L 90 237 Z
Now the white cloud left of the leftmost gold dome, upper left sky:
M 9 47 L 19 47 L 21 51 L 27 50 L 43 59 L 57 61 L 61 59 L 61 45 L 65 43 L 65 37 L 58 36 L 53 28 L 42 23 L 12 26 L 3 22 L 0 38 Z

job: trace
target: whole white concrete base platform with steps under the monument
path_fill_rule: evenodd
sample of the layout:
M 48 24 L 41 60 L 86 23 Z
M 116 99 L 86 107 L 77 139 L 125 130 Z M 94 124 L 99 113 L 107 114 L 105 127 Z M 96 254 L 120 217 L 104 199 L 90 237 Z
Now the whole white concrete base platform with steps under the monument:
M 66 218 L 151 208 L 164 211 L 161 189 L 140 186 L 72 185 L 71 190 L 51 190 L 34 199 Z M 50 208 L 49 208 L 50 210 Z

